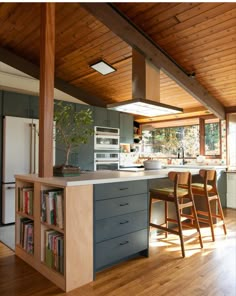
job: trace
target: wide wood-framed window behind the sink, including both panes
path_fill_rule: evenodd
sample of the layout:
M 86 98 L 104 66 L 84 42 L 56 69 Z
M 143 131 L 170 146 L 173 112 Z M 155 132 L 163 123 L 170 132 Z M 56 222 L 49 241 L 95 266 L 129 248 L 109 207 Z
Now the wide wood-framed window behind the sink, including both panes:
M 156 153 L 158 157 L 177 157 L 178 148 L 182 147 L 185 157 L 195 158 L 200 154 L 207 158 L 221 157 L 219 119 L 196 118 L 164 124 L 142 126 L 143 152 Z

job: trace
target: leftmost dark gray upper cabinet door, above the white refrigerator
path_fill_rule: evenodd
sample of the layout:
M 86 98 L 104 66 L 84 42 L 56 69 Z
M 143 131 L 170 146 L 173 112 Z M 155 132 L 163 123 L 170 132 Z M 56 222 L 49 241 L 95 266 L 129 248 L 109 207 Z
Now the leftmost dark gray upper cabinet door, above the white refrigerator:
M 29 95 L 4 91 L 3 115 L 29 118 Z

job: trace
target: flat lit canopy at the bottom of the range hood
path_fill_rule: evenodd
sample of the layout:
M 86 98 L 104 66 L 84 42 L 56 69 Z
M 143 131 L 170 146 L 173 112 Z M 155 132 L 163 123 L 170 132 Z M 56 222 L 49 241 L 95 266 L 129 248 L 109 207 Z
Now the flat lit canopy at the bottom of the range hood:
M 169 106 L 166 104 L 146 100 L 132 99 L 120 103 L 107 105 L 110 110 L 116 110 L 125 113 L 131 113 L 142 116 L 161 116 L 167 114 L 176 114 L 183 112 L 183 109 Z

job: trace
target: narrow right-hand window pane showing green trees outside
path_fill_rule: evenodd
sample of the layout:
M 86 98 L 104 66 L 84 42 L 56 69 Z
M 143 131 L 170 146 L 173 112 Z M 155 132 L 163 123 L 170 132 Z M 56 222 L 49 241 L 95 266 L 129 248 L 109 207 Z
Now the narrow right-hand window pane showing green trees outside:
M 220 128 L 218 122 L 205 124 L 205 155 L 220 154 Z

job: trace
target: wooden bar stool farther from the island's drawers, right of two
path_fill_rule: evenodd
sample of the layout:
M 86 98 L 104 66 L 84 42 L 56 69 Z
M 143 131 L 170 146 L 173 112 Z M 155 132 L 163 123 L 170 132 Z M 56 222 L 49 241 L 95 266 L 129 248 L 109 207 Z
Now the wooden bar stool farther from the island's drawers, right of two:
M 217 173 L 215 170 L 200 170 L 199 175 L 202 177 L 202 183 L 192 183 L 192 191 L 195 199 L 200 197 L 205 199 L 206 210 L 197 209 L 199 222 L 206 223 L 211 228 L 212 241 L 215 241 L 214 227 L 222 225 L 225 235 L 227 234 L 226 225 L 224 221 L 224 214 L 220 202 L 219 193 L 217 190 L 216 180 Z M 216 201 L 218 206 L 218 213 L 213 214 L 211 202 Z M 202 217 L 203 216 L 203 217 Z M 220 218 L 219 223 L 213 223 L 213 218 Z

